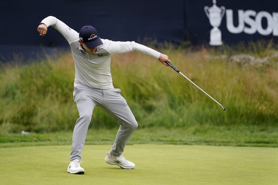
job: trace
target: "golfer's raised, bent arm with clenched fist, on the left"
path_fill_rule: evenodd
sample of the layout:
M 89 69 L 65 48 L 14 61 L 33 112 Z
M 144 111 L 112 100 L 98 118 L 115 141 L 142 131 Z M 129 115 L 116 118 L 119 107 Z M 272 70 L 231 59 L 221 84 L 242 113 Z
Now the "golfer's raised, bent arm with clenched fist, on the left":
M 47 33 L 47 27 L 49 26 L 57 29 L 67 39 L 69 44 L 78 40 L 78 33 L 75 30 L 53 16 L 48 16 L 41 21 L 41 24 L 38 26 L 40 36 L 44 36 Z

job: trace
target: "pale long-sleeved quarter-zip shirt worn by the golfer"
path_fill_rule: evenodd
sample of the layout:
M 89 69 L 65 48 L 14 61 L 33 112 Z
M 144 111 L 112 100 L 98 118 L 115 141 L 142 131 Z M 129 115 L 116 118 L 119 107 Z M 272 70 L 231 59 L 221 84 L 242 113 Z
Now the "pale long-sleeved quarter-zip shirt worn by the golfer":
M 79 44 L 79 33 L 56 17 L 48 16 L 41 23 L 57 29 L 69 42 L 75 63 L 74 87 L 85 85 L 91 88 L 112 90 L 114 87 L 110 73 L 110 60 L 114 54 L 137 51 L 156 59 L 160 57 L 159 52 L 134 41 L 115 42 L 107 39 L 101 39 L 103 45 L 98 46 L 95 53 L 89 53 Z

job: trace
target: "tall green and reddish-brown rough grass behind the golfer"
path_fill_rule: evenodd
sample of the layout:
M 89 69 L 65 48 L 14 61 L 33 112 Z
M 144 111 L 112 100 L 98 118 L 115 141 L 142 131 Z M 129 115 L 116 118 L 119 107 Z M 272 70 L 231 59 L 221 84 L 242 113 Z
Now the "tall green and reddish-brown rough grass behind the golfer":
M 237 51 L 260 58 L 275 53 L 268 45 L 260 49 L 258 45 L 249 47 Z M 235 55 L 232 49 L 227 46 L 222 50 L 161 49 L 175 67 L 226 107 L 226 112 L 170 67 L 136 52 L 112 56 L 113 84 L 122 90 L 139 128 L 276 125 L 278 57 L 261 66 L 241 65 L 217 57 Z M 0 69 L 1 133 L 72 130 L 78 118 L 72 97 L 73 82 L 71 53 L 28 65 L 3 65 Z M 89 127 L 114 128 L 118 123 L 95 108 Z

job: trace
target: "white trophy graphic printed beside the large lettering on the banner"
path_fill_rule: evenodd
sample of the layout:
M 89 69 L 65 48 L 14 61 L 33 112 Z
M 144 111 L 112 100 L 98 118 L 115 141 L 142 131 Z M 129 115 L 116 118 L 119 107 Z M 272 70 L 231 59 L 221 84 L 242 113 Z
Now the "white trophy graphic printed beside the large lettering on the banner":
M 225 13 L 225 7 L 221 6 L 220 8 L 216 6 L 216 0 L 212 1 L 213 6 L 208 7 L 205 6 L 204 10 L 206 13 L 206 16 L 209 18 L 209 22 L 211 23 L 211 26 L 213 26 L 213 29 L 211 29 L 211 36 L 210 36 L 210 45 L 219 46 L 222 45 L 221 40 L 221 31 L 218 29 L 218 27 L 221 24 L 222 18 Z

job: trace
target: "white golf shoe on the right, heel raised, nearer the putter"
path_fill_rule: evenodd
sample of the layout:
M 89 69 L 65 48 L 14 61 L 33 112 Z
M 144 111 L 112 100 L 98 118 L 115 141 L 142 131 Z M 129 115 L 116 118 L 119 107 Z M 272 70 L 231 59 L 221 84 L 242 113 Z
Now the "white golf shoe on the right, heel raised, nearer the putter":
M 110 152 L 107 152 L 105 162 L 111 165 L 116 164 L 124 169 L 133 169 L 135 167 L 135 164 L 133 162 L 125 159 L 122 155 L 120 155 L 119 157 L 113 157 L 111 156 Z

